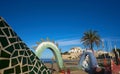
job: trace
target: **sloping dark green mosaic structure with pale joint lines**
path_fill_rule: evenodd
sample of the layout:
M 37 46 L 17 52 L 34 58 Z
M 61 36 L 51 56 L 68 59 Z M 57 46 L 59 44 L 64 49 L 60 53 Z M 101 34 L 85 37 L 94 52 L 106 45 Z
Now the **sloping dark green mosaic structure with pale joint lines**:
M 51 74 L 0 17 L 0 74 Z

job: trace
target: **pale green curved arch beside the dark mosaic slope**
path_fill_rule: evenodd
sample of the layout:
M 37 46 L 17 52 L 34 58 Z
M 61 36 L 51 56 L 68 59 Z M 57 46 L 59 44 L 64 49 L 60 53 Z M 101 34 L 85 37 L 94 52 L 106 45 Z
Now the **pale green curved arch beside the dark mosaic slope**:
M 58 49 L 56 44 L 54 44 L 53 42 L 50 42 L 50 41 L 43 41 L 43 42 L 37 43 L 37 44 L 38 44 L 38 46 L 35 48 L 35 54 L 38 57 L 41 57 L 42 52 L 48 48 L 55 55 L 59 69 L 62 70 L 64 68 L 62 56 L 61 56 L 60 50 Z

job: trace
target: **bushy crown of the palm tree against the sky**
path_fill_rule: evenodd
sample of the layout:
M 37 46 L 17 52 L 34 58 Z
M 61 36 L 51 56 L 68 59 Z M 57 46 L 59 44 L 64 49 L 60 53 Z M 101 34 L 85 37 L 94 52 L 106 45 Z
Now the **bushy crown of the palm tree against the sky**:
M 102 41 L 97 31 L 89 30 L 84 32 L 81 42 L 85 47 L 93 50 L 94 45 L 98 47 Z

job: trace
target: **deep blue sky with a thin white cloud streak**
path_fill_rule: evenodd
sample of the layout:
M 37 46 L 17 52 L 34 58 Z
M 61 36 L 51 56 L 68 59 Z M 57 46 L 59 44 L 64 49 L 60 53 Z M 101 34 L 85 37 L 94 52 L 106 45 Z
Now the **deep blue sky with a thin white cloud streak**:
M 63 52 L 83 47 L 79 40 L 89 29 L 120 47 L 120 0 L 2 0 L 0 16 L 29 47 L 46 37 Z

